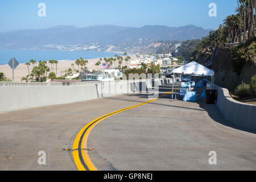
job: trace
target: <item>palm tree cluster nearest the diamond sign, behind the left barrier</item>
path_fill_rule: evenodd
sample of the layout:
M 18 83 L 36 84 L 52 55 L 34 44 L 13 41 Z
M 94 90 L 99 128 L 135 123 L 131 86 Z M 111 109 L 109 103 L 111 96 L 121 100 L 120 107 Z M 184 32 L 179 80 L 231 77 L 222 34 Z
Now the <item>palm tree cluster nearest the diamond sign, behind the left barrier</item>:
M 51 79 L 55 78 L 57 75 L 57 64 L 59 63 L 59 61 L 49 60 L 48 63 L 51 64 L 51 69 L 47 66 L 46 60 L 43 60 L 43 61 L 40 60 L 38 62 L 38 65 L 35 65 L 37 63 L 33 59 L 25 63 L 27 65 L 28 75 L 26 77 L 22 77 L 22 81 L 43 82 L 43 81 L 46 81 L 47 77 Z M 54 64 L 56 67 L 56 73 L 53 72 Z M 32 65 L 32 71 L 30 72 L 31 65 Z

